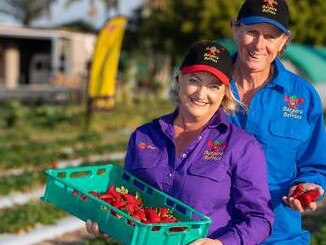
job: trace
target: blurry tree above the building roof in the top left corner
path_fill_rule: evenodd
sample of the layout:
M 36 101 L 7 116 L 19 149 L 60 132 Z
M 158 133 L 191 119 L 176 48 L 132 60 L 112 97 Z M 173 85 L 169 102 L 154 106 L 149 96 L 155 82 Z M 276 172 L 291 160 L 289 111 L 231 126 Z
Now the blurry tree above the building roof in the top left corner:
M 25 26 L 50 15 L 50 6 L 56 0 L 1 0 L 0 13 L 10 15 Z

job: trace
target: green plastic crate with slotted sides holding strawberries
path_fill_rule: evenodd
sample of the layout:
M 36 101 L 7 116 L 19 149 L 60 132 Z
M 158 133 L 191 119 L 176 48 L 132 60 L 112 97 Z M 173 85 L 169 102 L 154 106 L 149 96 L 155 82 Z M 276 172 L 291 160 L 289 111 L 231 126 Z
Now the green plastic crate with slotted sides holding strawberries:
M 209 217 L 116 165 L 49 169 L 46 174 L 47 185 L 41 200 L 50 202 L 81 220 L 98 222 L 102 232 L 126 245 L 185 245 L 206 237 L 211 224 Z M 124 186 L 132 194 L 138 192 L 147 207 L 169 208 L 181 222 L 144 224 L 88 193 L 105 192 L 112 184 L 116 187 Z M 118 218 L 111 212 L 122 217 Z M 186 229 L 171 231 L 174 227 Z

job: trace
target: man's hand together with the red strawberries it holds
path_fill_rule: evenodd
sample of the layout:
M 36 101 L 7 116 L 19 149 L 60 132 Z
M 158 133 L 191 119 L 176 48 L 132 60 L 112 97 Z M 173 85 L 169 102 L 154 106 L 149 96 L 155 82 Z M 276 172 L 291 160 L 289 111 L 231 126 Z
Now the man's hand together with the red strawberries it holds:
M 304 212 L 304 209 L 316 209 L 316 200 L 323 194 L 323 189 L 315 184 L 302 183 L 290 189 L 289 196 L 283 201 L 295 210 Z

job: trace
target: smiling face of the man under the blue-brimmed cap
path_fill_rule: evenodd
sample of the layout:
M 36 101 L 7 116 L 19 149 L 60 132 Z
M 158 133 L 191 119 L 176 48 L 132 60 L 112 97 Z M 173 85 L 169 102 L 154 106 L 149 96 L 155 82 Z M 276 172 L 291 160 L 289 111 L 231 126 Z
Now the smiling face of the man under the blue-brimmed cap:
M 238 61 L 249 72 L 269 70 L 288 40 L 281 30 L 267 23 L 240 24 L 233 28 L 233 33 L 238 48 Z

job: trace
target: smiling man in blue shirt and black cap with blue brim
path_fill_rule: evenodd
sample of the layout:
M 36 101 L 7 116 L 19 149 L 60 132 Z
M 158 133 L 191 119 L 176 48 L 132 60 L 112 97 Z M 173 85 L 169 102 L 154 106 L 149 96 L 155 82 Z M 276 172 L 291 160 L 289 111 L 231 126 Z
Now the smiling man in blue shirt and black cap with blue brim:
M 285 0 L 246 0 L 241 7 L 233 22 L 238 53 L 231 87 L 246 109 L 230 119 L 264 147 L 275 212 L 274 231 L 264 244 L 307 245 L 299 213 L 304 208 L 290 195 L 299 183 L 323 194 L 326 134 L 316 90 L 277 58 L 290 40 L 288 22 Z M 308 208 L 315 210 L 316 203 Z

